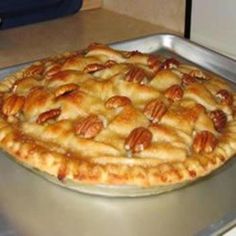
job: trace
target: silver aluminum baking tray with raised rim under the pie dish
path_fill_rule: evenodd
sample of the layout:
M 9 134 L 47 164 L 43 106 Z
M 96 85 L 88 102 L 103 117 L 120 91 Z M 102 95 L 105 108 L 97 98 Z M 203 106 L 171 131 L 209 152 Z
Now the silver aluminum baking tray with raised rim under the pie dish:
M 177 55 L 231 82 L 236 78 L 235 61 L 174 35 L 153 35 L 112 46 Z M 1 70 L 0 78 L 24 65 Z M 66 191 L 5 156 L 0 154 L 0 209 L 22 235 L 208 235 L 232 222 L 228 216 L 236 212 L 236 160 L 171 193 L 108 199 Z

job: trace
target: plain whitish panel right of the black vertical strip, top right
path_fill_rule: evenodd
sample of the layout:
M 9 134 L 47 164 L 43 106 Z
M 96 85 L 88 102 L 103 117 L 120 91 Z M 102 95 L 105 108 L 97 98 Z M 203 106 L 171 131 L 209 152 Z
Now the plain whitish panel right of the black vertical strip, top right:
M 191 39 L 236 58 L 236 0 L 193 0 Z

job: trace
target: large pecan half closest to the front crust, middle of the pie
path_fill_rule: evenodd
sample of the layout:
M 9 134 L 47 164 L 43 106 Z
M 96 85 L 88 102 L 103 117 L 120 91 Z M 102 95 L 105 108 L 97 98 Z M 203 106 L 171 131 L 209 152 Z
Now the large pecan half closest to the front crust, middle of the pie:
M 132 153 L 141 152 L 151 144 L 152 133 L 144 127 L 138 127 L 131 131 L 125 140 L 125 149 Z

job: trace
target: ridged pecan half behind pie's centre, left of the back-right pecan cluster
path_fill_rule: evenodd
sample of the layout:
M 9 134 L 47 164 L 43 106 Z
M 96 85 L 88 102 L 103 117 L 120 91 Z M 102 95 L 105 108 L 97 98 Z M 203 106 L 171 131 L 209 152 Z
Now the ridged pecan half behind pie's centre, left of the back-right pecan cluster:
M 148 76 L 143 69 L 132 67 L 126 74 L 125 80 L 127 80 L 128 82 L 145 84 L 148 80 Z

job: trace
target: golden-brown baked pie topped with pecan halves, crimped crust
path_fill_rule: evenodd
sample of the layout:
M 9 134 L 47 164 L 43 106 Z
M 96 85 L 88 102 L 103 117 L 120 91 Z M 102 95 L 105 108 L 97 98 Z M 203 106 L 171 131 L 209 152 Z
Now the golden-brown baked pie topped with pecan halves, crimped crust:
M 62 184 L 182 184 L 236 153 L 235 98 L 196 66 L 94 43 L 1 81 L 0 146 Z

